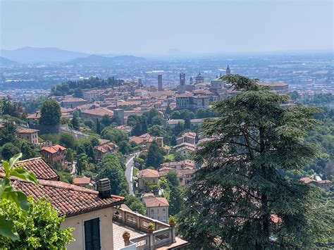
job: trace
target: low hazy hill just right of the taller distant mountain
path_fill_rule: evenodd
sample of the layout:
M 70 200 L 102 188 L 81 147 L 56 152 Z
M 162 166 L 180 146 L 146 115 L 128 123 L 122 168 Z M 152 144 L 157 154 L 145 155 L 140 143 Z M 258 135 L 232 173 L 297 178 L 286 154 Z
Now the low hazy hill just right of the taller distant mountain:
M 69 61 L 68 63 L 73 65 L 86 65 L 86 66 L 108 66 L 116 63 L 138 63 L 146 61 L 145 58 L 137 57 L 137 56 L 87 56 L 83 58 L 77 58 L 73 61 Z

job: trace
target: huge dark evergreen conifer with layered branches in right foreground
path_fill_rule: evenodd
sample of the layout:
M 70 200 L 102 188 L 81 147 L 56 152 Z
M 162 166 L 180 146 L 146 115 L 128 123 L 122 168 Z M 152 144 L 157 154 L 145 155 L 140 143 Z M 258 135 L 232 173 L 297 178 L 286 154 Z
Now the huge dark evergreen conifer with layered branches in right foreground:
M 204 163 L 185 193 L 180 234 L 193 249 L 274 249 L 325 246 L 333 235 L 333 208 L 318 188 L 284 174 L 318 155 L 304 141 L 317 125 L 317 108 L 286 107 L 287 96 L 257 80 L 227 75 L 235 96 L 218 102 L 218 120 L 204 124 Z

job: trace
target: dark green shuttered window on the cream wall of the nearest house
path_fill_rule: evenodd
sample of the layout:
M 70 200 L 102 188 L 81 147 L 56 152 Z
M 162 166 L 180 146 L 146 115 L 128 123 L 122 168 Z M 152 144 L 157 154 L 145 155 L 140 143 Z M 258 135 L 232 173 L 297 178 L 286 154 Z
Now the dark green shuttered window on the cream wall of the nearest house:
M 100 250 L 100 219 L 95 218 L 85 221 L 85 249 Z

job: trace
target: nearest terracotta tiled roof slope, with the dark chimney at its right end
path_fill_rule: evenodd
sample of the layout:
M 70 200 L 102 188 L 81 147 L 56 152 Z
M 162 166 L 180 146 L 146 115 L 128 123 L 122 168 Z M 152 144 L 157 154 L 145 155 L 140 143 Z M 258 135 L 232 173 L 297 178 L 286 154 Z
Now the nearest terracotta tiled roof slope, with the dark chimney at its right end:
M 111 195 L 108 199 L 99 198 L 99 192 L 78 187 L 65 182 L 39 180 L 39 187 L 25 181 L 14 180 L 13 187 L 20 189 L 34 199 L 45 198 L 56 208 L 59 215 L 75 215 L 122 204 L 124 198 Z

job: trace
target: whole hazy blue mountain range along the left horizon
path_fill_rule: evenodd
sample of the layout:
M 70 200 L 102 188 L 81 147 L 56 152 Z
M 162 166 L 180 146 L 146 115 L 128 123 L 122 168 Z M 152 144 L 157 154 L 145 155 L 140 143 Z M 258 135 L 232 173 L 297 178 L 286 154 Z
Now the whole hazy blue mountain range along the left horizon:
M 89 55 L 81 52 L 66 51 L 58 48 L 33 48 L 23 47 L 14 50 L 0 50 L 0 56 L 4 59 L 18 63 L 70 63 L 73 65 L 110 65 L 115 63 L 135 63 L 145 61 L 145 58 L 137 56 L 105 56 Z M 1 65 L 10 63 L 1 59 Z M 5 62 L 6 61 L 6 62 Z M 8 64 L 7 64 L 8 65 Z

